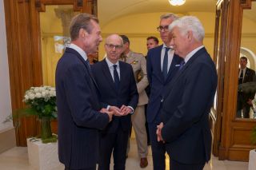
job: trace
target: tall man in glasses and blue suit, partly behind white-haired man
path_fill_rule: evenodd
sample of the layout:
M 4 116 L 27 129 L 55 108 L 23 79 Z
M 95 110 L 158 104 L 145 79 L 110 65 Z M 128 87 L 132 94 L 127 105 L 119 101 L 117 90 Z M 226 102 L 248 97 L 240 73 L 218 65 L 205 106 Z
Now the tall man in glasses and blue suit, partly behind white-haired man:
M 182 61 L 182 58 L 174 54 L 174 50 L 170 48 L 171 36 L 168 26 L 177 18 L 174 14 L 163 14 L 160 17 L 160 25 L 157 29 L 163 44 L 150 49 L 147 53 L 146 69 L 150 83 L 150 100 L 147 106 L 146 121 L 150 132 L 154 170 L 166 169 L 166 148 L 162 141 L 158 142 L 156 129 L 161 122 L 163 89 L 174 77 L 174 74 L 177 73 L 179 64 Z

